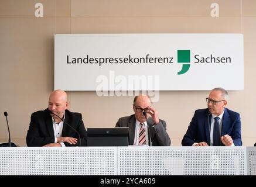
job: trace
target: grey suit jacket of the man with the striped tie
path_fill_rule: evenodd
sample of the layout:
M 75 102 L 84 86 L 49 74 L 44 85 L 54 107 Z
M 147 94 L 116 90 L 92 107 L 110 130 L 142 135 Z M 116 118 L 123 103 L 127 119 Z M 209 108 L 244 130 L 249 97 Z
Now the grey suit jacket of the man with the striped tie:
M 170 146 L 170 137 L 166 132 L 166 123 L 160 120 L 158 124 L 153 127 L 153 120 L 151 117 L 146 121 L 149 127 L 152 146 Z M 121 117 L 115 127 L 129 127 L 129 145 L 134 144 L 135 136 L 135 115 Z

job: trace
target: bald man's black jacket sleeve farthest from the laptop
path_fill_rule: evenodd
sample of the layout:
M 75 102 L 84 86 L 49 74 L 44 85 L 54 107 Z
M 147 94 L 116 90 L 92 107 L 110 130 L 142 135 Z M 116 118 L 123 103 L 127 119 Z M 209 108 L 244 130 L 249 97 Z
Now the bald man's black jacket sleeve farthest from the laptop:
M 36 113 L 33 113 L 31 115 L 29 130 L 26 136 L 26 143 L 28 147 L 42 147 L 46 144 L 54 143 L 54 137 L 42 136 L 39 121 L 39 117 L 36 115 Z

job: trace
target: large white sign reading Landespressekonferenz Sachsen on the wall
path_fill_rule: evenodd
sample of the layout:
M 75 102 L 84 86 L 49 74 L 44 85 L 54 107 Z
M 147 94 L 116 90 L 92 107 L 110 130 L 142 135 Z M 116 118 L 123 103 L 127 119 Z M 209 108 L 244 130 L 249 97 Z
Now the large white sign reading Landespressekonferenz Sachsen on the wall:
M 56 34 L 54 89 L 244 89 L 243 34 Z

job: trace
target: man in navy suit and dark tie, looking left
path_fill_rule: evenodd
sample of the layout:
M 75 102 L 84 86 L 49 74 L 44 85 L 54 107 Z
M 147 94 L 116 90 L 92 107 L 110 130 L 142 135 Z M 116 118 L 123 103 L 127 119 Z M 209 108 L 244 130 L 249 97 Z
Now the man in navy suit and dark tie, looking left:
M 240 114 L 226 108 L 228 93 L 214 88 L 207 109 L 194 112 L 182 146 L 242 146 Z

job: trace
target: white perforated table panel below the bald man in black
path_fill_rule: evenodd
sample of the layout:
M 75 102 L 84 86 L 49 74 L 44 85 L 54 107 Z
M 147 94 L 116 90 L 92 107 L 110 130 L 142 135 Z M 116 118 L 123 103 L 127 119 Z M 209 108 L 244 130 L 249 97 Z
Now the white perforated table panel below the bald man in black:
M 0 175 L 115 175 L 116 147 L 0 148 Z

